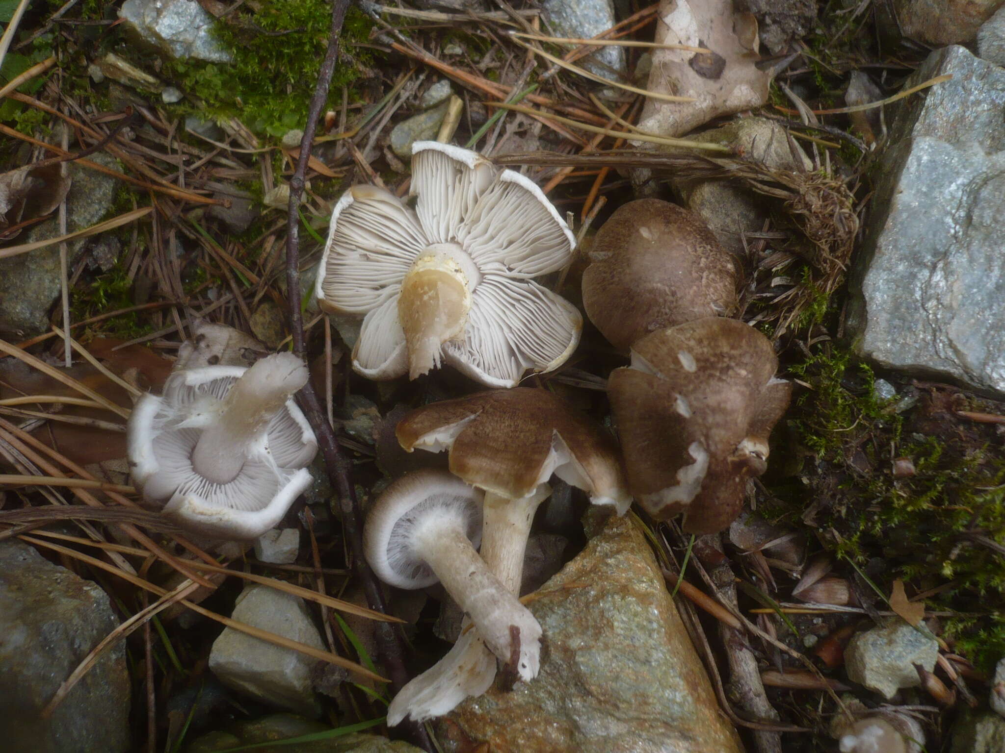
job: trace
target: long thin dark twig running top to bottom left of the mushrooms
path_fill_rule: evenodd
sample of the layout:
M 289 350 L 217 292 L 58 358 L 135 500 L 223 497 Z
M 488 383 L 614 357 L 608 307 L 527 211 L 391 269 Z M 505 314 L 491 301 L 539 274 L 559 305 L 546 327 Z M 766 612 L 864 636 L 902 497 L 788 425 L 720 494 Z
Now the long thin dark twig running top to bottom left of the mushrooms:
M 289 206 L 286 230 L 286 297 L 289 307 L 289 331 L 292 333 L 293 351 L 305 355 L 304 320 L 300 317 L 300 277 L 299 277 L 299 206 L 304 194 L 305 175 L 308 169 L 308 158 L 314 144 L 318 117 L 328 98 L 328 89 L 332 82 L 332 73 L 339 53 L 339 32 L 346 17 L 349 0 L 335 0 L 332 4 L 332 27 L 329 31 L 328 49 L 321 70 L 318 72 L 318 83 L 308 108 L 308 118 L 304 126 L 304 138 L 300 140 L 300 156 L 296 161 L 296 170 L 289 181 Z M 324 409 L 318 401 L 314 387 L 309 381 L 299 392 L 299 403 L 318 437 L 318 445 L 325 459 L 329 480 L 335 489 L 342 513 L 342 522 L 352 556 L 352 566 L 363 584 L 367 603 L 376 611 L 387 613 L 384 593 L 376 576 L 367 564 L 363 554 L 363 525 L 360 514 L 359 500 L 356 490 L 349 478 L 350 464 L 343 456 L 335 439 L 332 425 L 325 418 Z M 387 622 L 378 622 L 375 626 L 378 648 L 381 659 L 391 676 L 391 687 L 395 693 L 408 682 L 408 672 L 404 662 L 404 641 L 400 632 Z M 418 725 L 409 725 L 410 736 L 425 750 L 432 751 L 432 742 L 425 730 Z

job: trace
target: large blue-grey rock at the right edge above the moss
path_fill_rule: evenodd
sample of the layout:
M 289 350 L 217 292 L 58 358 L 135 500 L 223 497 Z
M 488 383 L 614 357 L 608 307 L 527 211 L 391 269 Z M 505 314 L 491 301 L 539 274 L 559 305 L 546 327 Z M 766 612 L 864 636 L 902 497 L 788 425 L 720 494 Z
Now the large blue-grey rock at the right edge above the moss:
M 848 323 L 880 364 L 1005 392 L 1005 70 L 963 47 L 907 85 L 951 73 L 895 111 Z

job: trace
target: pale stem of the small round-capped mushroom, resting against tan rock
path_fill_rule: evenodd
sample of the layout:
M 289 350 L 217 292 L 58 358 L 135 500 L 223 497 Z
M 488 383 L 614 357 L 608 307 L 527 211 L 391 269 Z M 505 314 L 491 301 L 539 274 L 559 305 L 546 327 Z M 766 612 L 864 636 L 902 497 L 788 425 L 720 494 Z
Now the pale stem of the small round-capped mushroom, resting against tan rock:
M 418 554 L 470 616 L 492 654 L 504 662 L 511 661 L 511 628 L 520 631 L 517 670 L 522 678 L 530 673 L 532 667 L 527 658 L 533 659 L 534 649 L 538 649 L 541 625 L 530 609 L 489 571 L 464 531 L 455 524 L 430 524 L 416 532 L 415 543 Z M 525 647 L 534 649 L 528 652 Z M 537 667 L 533 670 L 536 672 Z

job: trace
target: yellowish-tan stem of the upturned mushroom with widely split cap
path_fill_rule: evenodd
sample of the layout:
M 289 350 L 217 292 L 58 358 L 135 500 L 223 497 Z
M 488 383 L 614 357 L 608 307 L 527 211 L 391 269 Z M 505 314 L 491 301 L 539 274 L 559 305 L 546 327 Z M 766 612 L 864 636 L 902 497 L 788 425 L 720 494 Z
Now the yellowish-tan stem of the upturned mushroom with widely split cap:
M 463 256 L 459 247 L 452 253 L 451 250 L 423 254 L 401 283 L 398 318 L 408 348 L 409 379 L 438 367 L 443 343 L 464 331 L 471 307 L 469 286 L 476 282 L 468 278 L 476 270 L 465 270 L 464 266 L 473 265 L 462 265 L 455 258 Z

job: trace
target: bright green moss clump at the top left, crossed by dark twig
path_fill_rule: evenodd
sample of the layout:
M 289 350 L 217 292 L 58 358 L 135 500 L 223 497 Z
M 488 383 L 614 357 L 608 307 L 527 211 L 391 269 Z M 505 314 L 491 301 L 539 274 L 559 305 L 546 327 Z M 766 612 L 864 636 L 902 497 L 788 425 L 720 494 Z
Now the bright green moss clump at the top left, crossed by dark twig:
M 303 128 L 331 26 L 331 5 L 324 0 L 269 0 L 254 12 L 235 13 L 216 24 L 215 34 L 230 51 L 230 64 L 176 60 L 164 66 L 169 78 L 203 100 L 214 116 L 237 116 L 258 134 L 281 136 Z M 350 8 L 342 30 L 347 43 L 365 41 L 372 22 Z M 341 87 L 360 75 L 369 55 L 354 51 L 332 78 L 330 103 Z

